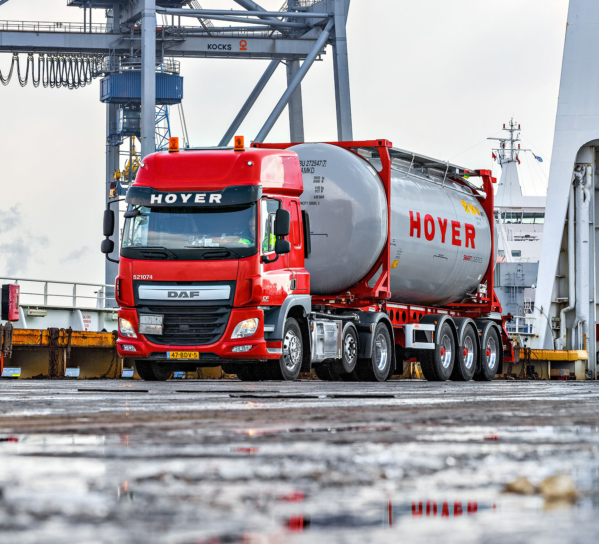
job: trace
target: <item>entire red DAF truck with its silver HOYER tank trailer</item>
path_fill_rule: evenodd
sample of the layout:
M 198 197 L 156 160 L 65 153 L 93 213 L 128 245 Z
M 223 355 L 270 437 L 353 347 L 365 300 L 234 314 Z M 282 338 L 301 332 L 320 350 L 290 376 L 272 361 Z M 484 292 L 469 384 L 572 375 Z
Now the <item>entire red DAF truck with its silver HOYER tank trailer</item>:
M 221 366 L 244 381 L 385 381 L 409 360 L 429 380 L 491 380 L 512 357 L 494 181 L 385 139 L 172 139 L 126 194 L 117 351 L 146 380 Z

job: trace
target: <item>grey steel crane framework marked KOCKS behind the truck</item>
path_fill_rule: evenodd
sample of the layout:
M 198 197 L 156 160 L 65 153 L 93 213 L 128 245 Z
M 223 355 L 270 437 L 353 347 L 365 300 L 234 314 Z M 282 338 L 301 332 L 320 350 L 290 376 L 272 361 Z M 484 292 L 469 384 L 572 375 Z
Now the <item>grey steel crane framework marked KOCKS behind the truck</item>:
M 0 0 L 0 5 L 6 1 Z M 314 60 L 325 53 L 326 45 L 332 45 L 337 139 L 351 141 L 346 38 L 350 0 L 287 0 L 281 11 L 264 10 L 252 0 L 235 2 L 243 9 L 204 10 L 196 0 L 68 0 L 69 6 L 83 10 L 83 25 L 0 21 L 0 51 L 102 56 L 104 74 L 117 73 L 123 65 L 141 71 L 140 139 L 141 154 L 146 156 L 156 150 L 156 68 L 169 58 L 271 60 L 219 145 L 231 141 L 277 66 L 285 63 L 288 87 L 253 141 L 263 142 L 288 106 L 290 141 L 302 142 L 301 82 Z M 105 10 L 107 23 L 92 23 L 93 9 Z M 157 16 L 161 17 L 162 26 L 157 24 Z M 192 20 L 195 26 L 187 26 L 186 20 Z M 236 26 L 214 26 L 213 21 Z M 116 123 L 117 105 L 107 104 L 107 206 L 114 202 L 109 197 L 110 186 L 113 172 L 119 170 L 119 147 L 111 145 L 108 138 Z M 118 214 L 115 215 L 118 221 Z M 113 235 L 115 250 L 110 256 L 114 260 L 119 252 L 119 230 L 117 223 Z M 106 284 L 113 284 L 117 270 L 115 263 L 107 261 Z

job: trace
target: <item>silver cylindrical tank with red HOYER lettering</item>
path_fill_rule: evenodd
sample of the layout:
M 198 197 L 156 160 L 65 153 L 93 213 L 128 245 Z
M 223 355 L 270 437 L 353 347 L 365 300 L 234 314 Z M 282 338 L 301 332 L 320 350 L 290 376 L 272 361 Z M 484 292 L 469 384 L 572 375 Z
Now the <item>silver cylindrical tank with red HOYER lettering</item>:
M 380 161 L 329 144 L 291 150 L 302 166 L 300 200 L 310 216 L 312 253 L 305 268 L 311 292 L 341 293 L 371 271 L 385 247 Z M 429 306 L 461 302 L 476 291 L 491 259 L 489 220 L 467 187 L 408 170 L 394 161 L 391 299 Z

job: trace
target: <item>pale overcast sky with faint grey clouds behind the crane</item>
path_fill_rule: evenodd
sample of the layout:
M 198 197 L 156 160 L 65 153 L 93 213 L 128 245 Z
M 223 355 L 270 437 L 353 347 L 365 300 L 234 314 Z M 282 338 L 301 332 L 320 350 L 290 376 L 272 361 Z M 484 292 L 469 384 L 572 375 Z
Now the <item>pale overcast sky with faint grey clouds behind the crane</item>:
M 259 2 L 279 10 L 282 0 Z M 202 0 L 204 8 L 239 8 Z M 522 162 L 528 193 L 549 172 L 567 0 L 352 0 L 347 27 L 353 136 L 500 169 L 488 136 L 510 117 L 546 159 Z M 65 0 L 10 0 L 0 20 L 81 22 Z M 94 22 L 104 11 L 94 10 Z M 337 138 L 331 50 L 302 83 L 306 141 Z M 22 55 L 25 60 L 25 56 Z M 10 66 L 0 53 L 0 70 Z M 192 145 L 216 145 L 266 68 L 265 60 L 186 59 L 183 107 Z M 286 86 L 283 66 L 238 133 L 253 139 Z M 0 85 L 0 274 L 104 281 L 105 105 L 83 89 Z M 173 111 L 175 114 L 176 111 Z M 179 135 L 173 115 L 173 135 Z M 266 141 L 288 141 L 285 111 Z M 537 167 L 537 171 L 528 168 Z

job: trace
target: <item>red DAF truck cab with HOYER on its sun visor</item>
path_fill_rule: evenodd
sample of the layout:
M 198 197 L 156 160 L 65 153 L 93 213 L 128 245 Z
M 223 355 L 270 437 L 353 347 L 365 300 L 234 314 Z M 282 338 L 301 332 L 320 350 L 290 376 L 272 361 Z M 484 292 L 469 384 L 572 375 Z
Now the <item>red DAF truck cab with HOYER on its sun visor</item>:
M 125 199 L 119 356 L 149 380 L 209 366 L 295 379 L 311 311 L 302 191 L 293 151 L 147 156 Z

